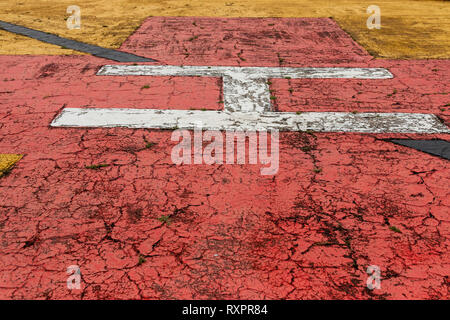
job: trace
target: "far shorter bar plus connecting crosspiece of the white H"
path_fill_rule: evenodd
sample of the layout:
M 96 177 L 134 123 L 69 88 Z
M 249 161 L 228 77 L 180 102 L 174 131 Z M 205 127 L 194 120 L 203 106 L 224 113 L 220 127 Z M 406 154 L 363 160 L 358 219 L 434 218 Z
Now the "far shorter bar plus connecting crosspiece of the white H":
M 106 65 L 100 76 L 200 76 L 222 77 L 224 110 L 266 112 L 271 110 L 269 78 L 389 79 L 382 68 L 272 68 L 222 66 Z

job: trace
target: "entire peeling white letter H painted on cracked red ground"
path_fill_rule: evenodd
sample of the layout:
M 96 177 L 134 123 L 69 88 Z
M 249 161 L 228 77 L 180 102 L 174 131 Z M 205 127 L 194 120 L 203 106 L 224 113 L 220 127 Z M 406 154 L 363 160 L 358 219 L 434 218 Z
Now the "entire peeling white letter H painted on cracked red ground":
M 223 78 L 223 111 L 65 108 L 53 127 L 448 133 L 432 114 L 272 112 L 269 78 L 389 79 L 383 68 L 269 68 L 222 66 L 107 65 L 97 75 L 203 76 Z

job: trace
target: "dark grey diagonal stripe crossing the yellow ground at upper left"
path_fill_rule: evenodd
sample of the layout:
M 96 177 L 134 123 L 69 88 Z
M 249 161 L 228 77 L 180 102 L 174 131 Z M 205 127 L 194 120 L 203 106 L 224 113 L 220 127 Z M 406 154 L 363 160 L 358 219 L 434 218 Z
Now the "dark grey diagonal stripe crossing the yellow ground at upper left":
M 76 40 L 61 38 L 51 33 L 22 27 L 2 20 L 0 20 L 0 29 L 20 34 L 22 36 L 30 37 L 42 42 L 55 44 L 57 46 L 61 46 L 76 51 L 90 53 L 96 57 L 114 60 L 118 62 L 157 62 L 156 60 L 140 57 L 132 53 L 117 51 L 114 49 L 103 48 L 96 45 L 79 42 Z

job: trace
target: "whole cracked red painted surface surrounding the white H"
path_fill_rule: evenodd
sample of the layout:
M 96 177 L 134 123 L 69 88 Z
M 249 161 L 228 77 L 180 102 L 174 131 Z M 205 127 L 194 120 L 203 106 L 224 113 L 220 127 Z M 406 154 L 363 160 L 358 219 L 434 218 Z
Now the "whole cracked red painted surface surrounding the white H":
M 217 20 L 150 18 L 123 48 L 167 64 L 273 66 L 280 48 L 282 65 L 382 66 L 395 78 L 273 80 L 276 107 L 449 119 L 448 60 L 371 60 L 326 19 Z M 449 298 L 448 161 L 382 140 L 405 135 L 281 133 L 275 176 L 176 166 L 170 131 L 49 123 L 63 107 L 220 109 L 219 79 L 100 77 L 111 62 L 86 56 L 0 63 L 0 153 L 25 154 L 0 179 L 0 298 Z M 66 287 L 70 265 L 81 290 Z

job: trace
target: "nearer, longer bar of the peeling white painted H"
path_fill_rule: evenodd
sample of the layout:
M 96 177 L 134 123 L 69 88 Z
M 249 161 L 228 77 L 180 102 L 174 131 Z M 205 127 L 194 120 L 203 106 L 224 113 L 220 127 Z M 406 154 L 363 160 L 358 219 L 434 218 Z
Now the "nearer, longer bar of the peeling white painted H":
M 201 124 L 201 125 L 200 125 Z M 348 112 L 226 112 L 65 108 L 52 127 L 270 130 L 363 133 L 450 133 L 432 114 Z

